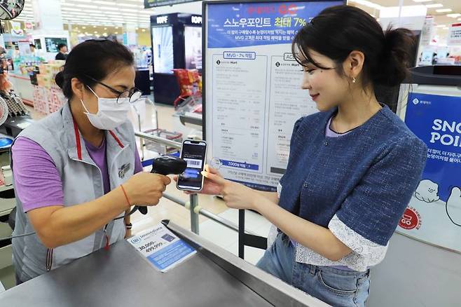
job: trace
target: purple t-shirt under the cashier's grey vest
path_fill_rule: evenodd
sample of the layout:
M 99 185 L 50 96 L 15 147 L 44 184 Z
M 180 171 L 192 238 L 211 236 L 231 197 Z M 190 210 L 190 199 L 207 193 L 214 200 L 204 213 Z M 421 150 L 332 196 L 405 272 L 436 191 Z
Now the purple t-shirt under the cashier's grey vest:
M 106 139 L 96 147 L 85 142 L 88 154 L 102 172 L 104 193 L 111 191 L 106 163 Z M 11 148 L 14 158 L 15 193 L 24 212 L 64 203 L 62 182 L 53 159 L 38 143 L 18 137 Z M 135 149 L 135 173 L 142 172 L 141 159 Z

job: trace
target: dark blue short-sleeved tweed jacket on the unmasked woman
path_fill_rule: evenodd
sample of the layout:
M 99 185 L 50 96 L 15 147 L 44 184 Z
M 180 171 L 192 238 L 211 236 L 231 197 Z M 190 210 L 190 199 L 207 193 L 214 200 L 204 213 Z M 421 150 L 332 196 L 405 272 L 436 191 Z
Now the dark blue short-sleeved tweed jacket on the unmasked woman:
M 420 182 L 427 146 L 388 107 L 346 135 L 326 137 L 335 111 L 296 121 L 280 206 L 324 227 L 337 214 L 386 245 Z

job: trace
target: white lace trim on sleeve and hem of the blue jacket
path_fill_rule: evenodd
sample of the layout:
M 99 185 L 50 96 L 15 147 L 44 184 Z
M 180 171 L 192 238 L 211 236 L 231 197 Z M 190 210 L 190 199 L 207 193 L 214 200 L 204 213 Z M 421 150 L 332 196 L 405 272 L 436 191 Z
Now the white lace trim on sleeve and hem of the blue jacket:
M 277 194 L 280 198 L 282 186 L 277 186 Z M 360 236 L 358 233 L 344 224 L 336 214 L 328 224 L 328 228 L 336 238 L 347 245 L 352 252 L 339 261 L 331 261 L 321 254 L 317 254 L 308 247 L 296 243 L 296 262 L 313 264 L 315 266 L 347 266 L 355 271 L 366 271 L 370 266 L 379 264 L 385 257 L 387 246 L 379 245 Z M 270 242 L 271 240 L 269 240 Z

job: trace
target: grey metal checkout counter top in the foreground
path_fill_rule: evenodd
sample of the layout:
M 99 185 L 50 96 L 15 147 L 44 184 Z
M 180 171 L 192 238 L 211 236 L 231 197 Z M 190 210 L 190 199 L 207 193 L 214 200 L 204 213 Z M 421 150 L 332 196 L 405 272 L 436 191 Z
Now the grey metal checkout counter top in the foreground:
M 328 306 L 169 221 L 197 253 L 166 273 L 123 240 L 0 293 L 2 306 Z

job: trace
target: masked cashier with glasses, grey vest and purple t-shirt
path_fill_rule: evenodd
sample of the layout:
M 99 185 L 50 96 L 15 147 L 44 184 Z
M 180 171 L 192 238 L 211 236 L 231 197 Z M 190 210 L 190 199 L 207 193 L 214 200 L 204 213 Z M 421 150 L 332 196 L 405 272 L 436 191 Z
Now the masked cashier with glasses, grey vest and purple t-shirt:
M 156 205 L 170 184 L 142 172 L 127 117 L 140 96 L 127 48 L 80 43 L 56 83 L 69 102 L 23 130 L 11 150 L 13 236 L 36 231 L 13 239 L 18 283 L 123 240 L 131 227 L 125 212 L 133 204 Z

